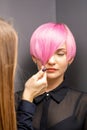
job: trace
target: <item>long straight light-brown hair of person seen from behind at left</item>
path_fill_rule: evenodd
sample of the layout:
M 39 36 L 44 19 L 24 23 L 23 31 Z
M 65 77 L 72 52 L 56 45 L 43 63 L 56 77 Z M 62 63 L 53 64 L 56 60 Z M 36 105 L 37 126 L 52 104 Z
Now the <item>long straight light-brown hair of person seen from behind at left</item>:
M 16 130 L 13 81 L 17 43 L 14 28 L 0 19 L 0 130 Z

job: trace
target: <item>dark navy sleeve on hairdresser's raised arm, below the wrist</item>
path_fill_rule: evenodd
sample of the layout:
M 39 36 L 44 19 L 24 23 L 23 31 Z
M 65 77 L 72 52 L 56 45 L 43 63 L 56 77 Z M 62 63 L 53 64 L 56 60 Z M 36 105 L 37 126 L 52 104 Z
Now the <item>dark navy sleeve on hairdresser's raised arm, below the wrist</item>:
M 32 126 L 32 118 L 35 112 L 35 108 L 35 104 L 21 100 L 17 109 L 18 130 L 34 130 Z

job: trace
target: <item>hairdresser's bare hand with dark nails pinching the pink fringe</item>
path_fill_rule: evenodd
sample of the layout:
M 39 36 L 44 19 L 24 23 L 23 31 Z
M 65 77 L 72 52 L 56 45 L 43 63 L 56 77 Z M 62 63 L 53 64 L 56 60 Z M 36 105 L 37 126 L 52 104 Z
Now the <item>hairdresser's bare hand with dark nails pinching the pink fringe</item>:
M 22 99 L 33 102 L 33 99 L 43 94 L 47 89 L 46 72 L 40 70 L 26 83 Z

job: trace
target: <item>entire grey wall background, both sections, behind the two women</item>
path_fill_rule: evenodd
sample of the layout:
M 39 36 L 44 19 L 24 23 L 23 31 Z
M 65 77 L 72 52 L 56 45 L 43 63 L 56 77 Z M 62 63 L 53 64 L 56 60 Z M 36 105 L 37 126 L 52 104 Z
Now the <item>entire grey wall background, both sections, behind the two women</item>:
M 46 22 L 62 22 L 75 36 L 77 55 L 67 71 L 74 88 L 87 92 L 87 1 L 86 0 L 0 0 L 0 17 L 9 21 L 18 32 L 18 62 L 15 92 L 37 68 L 29 52 L 33 31 Z

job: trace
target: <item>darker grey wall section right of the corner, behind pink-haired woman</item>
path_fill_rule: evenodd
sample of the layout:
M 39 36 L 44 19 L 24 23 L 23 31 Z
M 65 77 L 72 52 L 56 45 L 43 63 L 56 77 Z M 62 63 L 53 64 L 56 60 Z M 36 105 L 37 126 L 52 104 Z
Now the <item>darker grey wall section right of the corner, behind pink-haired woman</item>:
M 69 67 L 70 84 L 87 91 L 87 1 L 56 0 L 57 22 L 63 22 L 73 32 L 77 43 L 77 55 Z

